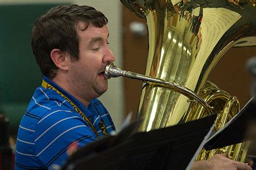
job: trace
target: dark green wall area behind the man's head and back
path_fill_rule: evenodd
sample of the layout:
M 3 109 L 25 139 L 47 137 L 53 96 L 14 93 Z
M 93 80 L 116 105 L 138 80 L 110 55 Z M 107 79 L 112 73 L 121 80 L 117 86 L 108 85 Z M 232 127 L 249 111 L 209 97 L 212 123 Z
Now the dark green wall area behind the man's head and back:
M 30 45 L 31 29 L 36 18 L 55 5 L 0 6 L 0 109 L 9 118 L 13 134 L 42 82 Z

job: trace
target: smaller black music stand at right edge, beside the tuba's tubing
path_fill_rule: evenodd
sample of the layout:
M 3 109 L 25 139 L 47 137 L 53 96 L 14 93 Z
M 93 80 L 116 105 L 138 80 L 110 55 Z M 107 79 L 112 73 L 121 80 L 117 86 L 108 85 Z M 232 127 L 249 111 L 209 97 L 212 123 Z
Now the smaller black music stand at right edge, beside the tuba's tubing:
M 256 101 L 251 98 L 247 104 L 229 122 L 212 135 L 205 143 L 205 149 L 212 150 L 236 143 L 251 141 L 256 142 L 255 133 L 247 133 L 256 123 Z

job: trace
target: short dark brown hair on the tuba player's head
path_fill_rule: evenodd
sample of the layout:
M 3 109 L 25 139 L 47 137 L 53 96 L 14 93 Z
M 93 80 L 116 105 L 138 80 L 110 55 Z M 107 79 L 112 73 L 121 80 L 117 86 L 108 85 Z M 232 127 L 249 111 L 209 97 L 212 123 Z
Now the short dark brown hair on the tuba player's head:
M 53 78 L 58 69 L 51 59 L 52 49 L 68 52 L 76 61 L 79 59 L 79 36 L 77 24 L 103 27 L 108 19 L 102 12 L 90 6 L 60 5 L 51 8 L 36 20 L 31 33 L 31 45 L 36 62 L 43 75 Z

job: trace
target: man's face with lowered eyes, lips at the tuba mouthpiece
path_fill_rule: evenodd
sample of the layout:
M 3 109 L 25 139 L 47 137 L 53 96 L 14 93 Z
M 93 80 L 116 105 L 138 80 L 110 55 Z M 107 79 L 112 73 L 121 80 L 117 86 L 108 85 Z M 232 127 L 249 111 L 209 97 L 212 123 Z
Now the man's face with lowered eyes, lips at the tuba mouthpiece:
M 104 76 L 105 66 L 108 62 L 114 62 L 115 57 L 108 46 L 109 31 L 106 25 L 102 28 L 90 25 L 82 30 L 84 27 L 84 23 L 79 23 L 80 58 L 71 62 L 69 71 L 80 95 L 91 100 L 108 89 L 108 80 Z

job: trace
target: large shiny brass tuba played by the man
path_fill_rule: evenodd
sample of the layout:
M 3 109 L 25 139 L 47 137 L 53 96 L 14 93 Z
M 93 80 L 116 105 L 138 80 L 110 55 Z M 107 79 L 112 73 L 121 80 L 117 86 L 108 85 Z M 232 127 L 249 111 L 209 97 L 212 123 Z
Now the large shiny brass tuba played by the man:
M 215 130 L 222 128 L 240 110 L 240 105 L 236 97 L 220 90 L 207 79 L 232 46 L 256 45 L 255 1 L 121 2 L 146 20 L 149 46 L 147 78 L 172 82 L 195 94 L 188 97 L 189 94 L 174 88 L 147 83 L 143 87 L 138 109 L 138 118 L 143 118 L 140 130 L 164 128 L 211 113 L 218 115 Z M 195 96 L 203 99 L 205 104 L 197 102 L 199 100 Z M 212 151 L 202 150 L 197 159 L 204 160 L 216 153 L 228 152 L 233 160 L 245 162 L 248 146 L 249 143 L 245 142 Z

